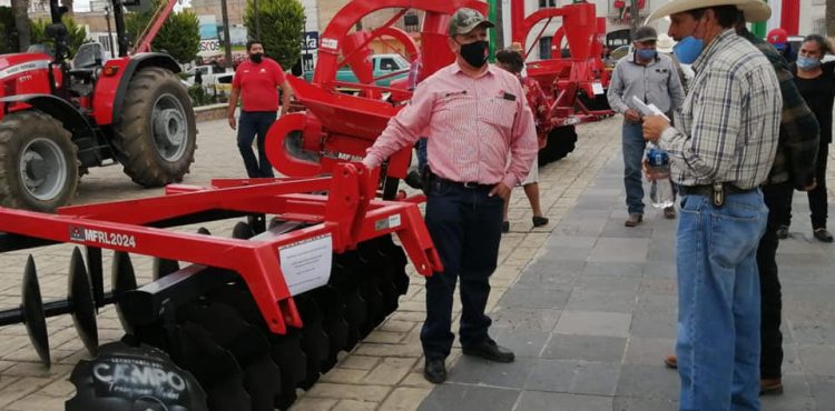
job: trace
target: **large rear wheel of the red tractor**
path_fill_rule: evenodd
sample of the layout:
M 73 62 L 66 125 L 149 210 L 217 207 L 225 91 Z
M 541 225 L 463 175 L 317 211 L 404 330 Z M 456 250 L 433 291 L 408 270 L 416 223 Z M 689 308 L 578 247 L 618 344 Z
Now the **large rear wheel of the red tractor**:
M 137 72 L 117 116 L 112 142 L 125 173 L 143 187 L 183 181 L 194 162 L 197 126 L 177 76 L 156 67 Z

